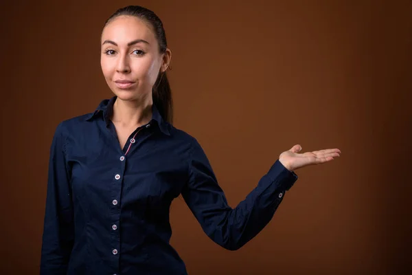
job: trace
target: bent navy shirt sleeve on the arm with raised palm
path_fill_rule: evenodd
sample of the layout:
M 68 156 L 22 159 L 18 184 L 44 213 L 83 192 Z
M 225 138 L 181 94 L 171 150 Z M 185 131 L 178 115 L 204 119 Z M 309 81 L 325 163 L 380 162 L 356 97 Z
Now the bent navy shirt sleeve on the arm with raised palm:
M 249 195 L 231 208 L 203 148 L 194 140 L 182 197 L 207 236 L 227 250 L 238 250 L 271 221 L 295 181 L 297 175 L 277 159 Z

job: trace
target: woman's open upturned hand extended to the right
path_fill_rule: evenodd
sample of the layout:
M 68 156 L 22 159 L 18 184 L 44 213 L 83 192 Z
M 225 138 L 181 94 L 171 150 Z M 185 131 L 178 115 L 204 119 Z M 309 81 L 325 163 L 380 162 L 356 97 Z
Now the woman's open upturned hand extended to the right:
M 330 162 L 334 157 L 339 157 L 341 154 L 341 150 L 338 148 L 299 153 L 301 149 L 301 146 L 296 144 L 290 148 L 290 150 L 284 151 L 279 155 L 279 162 L 281 162 L 288 170 L 293 171 L 308 165 Z

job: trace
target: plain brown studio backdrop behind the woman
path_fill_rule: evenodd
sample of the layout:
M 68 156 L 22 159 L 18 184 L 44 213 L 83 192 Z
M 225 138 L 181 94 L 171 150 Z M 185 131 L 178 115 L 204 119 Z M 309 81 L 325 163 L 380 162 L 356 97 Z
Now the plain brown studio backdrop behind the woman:
M 38 274 L 58 122 L 111 96 L 106 17 L 163 20 L 175 125 L 201 142 L 231 206 L 279 153 L 340 148 L 229 252 L 183 199 L 172 244 L 190 274 L 405 274 L 411 268 L 411 1 L 8 1 L 2 4 L 1 271 Z

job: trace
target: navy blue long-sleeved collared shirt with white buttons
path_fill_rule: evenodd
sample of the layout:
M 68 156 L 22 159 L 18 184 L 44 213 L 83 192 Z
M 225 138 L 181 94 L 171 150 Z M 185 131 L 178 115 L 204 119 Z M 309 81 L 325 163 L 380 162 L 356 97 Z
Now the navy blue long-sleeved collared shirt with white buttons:
M 116 97 L 61 122 L 49 159 L 41 274 L 187 274 L 170 245 L 169 209 L 179 195 L 207 236 L 237 250 L 272 219 L 297 180 L 279 159 L 231 208 L 201 145 L 152 120 L 120 148 Z

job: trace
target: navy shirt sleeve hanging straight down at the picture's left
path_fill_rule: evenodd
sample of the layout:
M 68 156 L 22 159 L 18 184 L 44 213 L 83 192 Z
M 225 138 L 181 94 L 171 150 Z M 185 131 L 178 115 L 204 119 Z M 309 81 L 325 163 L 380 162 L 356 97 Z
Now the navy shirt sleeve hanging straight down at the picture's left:
M 40 274 L 66 274 L 73 241 L 73 205 L 60 123 L 49 156 Z

